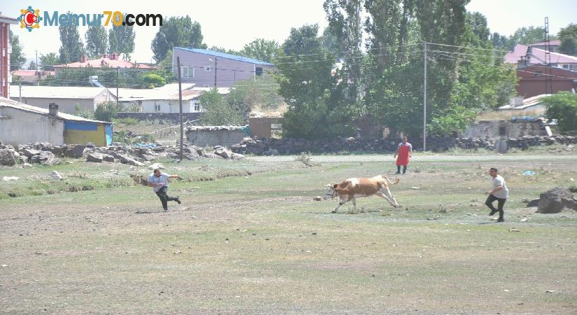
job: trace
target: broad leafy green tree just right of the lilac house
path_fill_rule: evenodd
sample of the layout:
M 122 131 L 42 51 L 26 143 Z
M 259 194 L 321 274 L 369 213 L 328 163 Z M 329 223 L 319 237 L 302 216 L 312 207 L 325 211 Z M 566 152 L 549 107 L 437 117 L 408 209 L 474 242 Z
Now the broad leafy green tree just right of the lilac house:
M 283 43 L 286 56 L 279 59 L 275 76 L 288 105 L 283 137 L 327 139 L 352 133 L 355 111 L 343 102 L 343 85 L 332 75 L 335 56 L 317 34 L 318 25 L 303 25 L 292 28 Z

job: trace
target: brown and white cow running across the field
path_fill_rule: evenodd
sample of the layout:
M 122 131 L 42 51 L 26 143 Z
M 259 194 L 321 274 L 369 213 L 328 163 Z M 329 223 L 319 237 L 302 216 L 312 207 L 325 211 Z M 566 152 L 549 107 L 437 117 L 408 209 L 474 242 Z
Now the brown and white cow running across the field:
M 399 179 L 393 183 L 384 175 L 374 176 L 371 179 L 347 179 L 339 184 L 325 186 L 324 199 L 327 200 L 329 198 L 333 199 L 339 197 L 339 206 L 332 211 L 333 214 L 336 213 L 343 204 L 350 200 L 352 200 L 352 205 L 355 207 L 355 211 L 357 211 L 357 198 L 370 197 L 373 195 L 387 200 L 392 207 L 397 208 L 401 207 L 401 205 L 397 203 L 397 200 L 394 200 L 394 197 L 389 190 L 389 184 L 396 183 L 399 183 Z

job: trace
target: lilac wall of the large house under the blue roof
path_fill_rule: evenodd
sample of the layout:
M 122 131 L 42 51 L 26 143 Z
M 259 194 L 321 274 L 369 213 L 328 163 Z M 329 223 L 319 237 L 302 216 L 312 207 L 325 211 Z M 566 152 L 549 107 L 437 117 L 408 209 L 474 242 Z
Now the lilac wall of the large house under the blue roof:
M 181 66 L 194 66 L 194 78 L 182 78 L 184 83 L 195 83 L 198 87 L 215 86 L 215 57 L 201 54 L 199 52 L 189 52 L 180 49 L 173 50 L 173 64 L 176 65 L 176 57 L 180 57 Z M 216 57 L 216 86 L 230 87 L 236 81 L 255 78 L 255 64 L 241 62 L 234 59 Z M 212 59 L 213 61 L 209 60 Z M 204 71 L 208 66 L 211 71 Z M 256 65 L 257 67 L 271 69 L 272 66 Z M 177 70 L 178 71 L 178 70 Z M 181 73 L 182 75 L 182 73 Z

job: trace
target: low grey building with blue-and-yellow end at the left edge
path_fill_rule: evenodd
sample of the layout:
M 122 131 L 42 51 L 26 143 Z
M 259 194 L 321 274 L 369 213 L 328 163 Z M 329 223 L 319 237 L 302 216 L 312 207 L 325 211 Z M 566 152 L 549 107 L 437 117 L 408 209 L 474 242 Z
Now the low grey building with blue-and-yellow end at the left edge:
M 112 123 L 60 113 L 55 104 L 41 109 L 0 97 L 0 141 L 107 146 L 112 142 Z

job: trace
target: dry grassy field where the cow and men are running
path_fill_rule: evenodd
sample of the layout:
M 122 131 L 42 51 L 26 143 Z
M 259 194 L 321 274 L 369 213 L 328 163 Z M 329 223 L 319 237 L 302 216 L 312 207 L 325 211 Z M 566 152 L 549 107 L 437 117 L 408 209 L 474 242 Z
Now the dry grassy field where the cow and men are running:
M 4 168 L 21 179 L 0 183 L 0 312 L 575 314 L 577 212 L 523 200 L 574 185 L 576 161 L 417 154 L 404 176 L 390 155 L 166 161 L 185 179 L 169 186 L 183 204 L 168 213 L 129 176 L 150 170 Z M 511 192 L 505 223 L 483 205 L 489 167 Z M 313 201 L 327 183 L 376 174 L 401 179 L 402 208 L 370 197 L 362 213 L 331 214 L 336 201 Z

